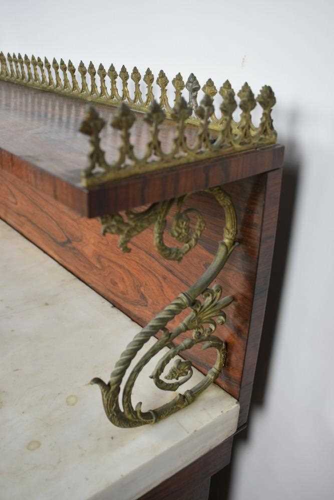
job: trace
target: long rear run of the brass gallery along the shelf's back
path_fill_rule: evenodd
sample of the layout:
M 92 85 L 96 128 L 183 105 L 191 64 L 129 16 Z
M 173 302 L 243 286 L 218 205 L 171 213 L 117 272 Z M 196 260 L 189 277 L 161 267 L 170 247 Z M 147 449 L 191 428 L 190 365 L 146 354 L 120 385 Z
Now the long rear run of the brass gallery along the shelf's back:
M 125 102 L 132 109 L 137 111 L 148 110 L 149 105 L 155 98 L 153 93 L 154 75 L 150 68 L 147 68 L 143 78 L 146 85 L 145 98 L 143 98 L 140 89 L 141 74 L 136 66 L 133 68 L 131 76 L 129 76 L 124 65 L 119 73 L 117 73 L 113 64 L 110 65 L 108 71 L 106 71 L 103 64 L 99 64 L 97 67 L 98 70 L 96 71 L 93 62 L 90 61 L 87 70 L 85 64 L 81 61 L 78 69 L 76 69 L 71 60 L 66 64 L 63 59 L 58 63 L 55 58 L 51 66 L 46 57 L 43 62 L 42 58 L 38 57 L 36 59 L 34 55 L 29 59 L 26 54 L 23 59 L 20 53 L 18 57 L 15 53 L 13 55 L 8 53 L 6 57 L 3 52 L 0 52 L 0 79 L 2 80 L 12 81 L 14 83 L 20 83 L 21 85 L 39 88 L 40 90 L 57 92 L 63 95 L 70 95 L 71 97 L 78 97 L 80 99 L 111 106 L 119 106 L 122 102 Z M 61 70 L 62 77 L 60 76 L 59 70 Z M 87 83 L 87 72 L 89 74 L 89 84 Z M 80 83 L 77 80 L 77 73 L 80 74 Z M 110 80 L 108 83 L 106 83 L 107 77 Z M 131 92 L 128 88 L 128 80 L 130 77 L 134 82 L 133 96 L 131 96 Z M 121 80 L 120 90 L 117 86 L 118 78 Z M 159 101 L 161 107 L 165 111 L 166 117 L 171 118 L 172 108 L 167 96 L 167 85 L 169 80 L 162 69 L 157 76 L 156 83 L 160 87 L 160 97 L 157 97 L 156 100 Z M 184 88 L 188 90 L 188 104 L 191 113 L 187 118 L 187 123 L 199 125 L 200 119 L 197 114 L 197 94 L 201 86 L 196 76 L 191 73 L 187 82 L 184 83 L 181 73 L 177 73 L 172 79 L 172 85 L 175 89 L 174 104 L 179 101 L 182 90 Z M 206 81 L 202 90 L 206 95 L 209 95 L 209 97 L 214 97 L 217 93 L 217 89 L 211 78 Z M 221 94 L 220 91 L 219 93 Z M 222 120 L 223 115 L 218 118 L 213 113 L 209 128 L 212 130 L 220 130 Z M 263 127 L 261 130 L 262 129 Z

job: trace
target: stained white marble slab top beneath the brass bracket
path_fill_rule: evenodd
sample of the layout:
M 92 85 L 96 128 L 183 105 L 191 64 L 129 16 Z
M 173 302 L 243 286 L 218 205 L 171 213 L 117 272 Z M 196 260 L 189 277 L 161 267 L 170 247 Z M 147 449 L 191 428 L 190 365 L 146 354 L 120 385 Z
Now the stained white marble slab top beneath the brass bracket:
M 0 245 L 2 500 L 134 500 L 234 432 L 238 402 L 214 385 L 158 424 L 113 426 L 88 382 L 139 326 L 2 221 Z M 173 397 L 154 364 L 134 390 L 144 410 Z

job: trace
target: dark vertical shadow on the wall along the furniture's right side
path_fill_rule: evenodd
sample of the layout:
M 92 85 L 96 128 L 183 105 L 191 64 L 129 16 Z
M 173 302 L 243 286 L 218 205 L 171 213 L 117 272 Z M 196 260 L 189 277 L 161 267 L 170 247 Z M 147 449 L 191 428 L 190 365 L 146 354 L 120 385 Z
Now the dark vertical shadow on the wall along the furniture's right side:
M 286 156 L 288 155 L 288 158 L 291 158 L 291 160 L 289 161 L 289 159 L 287 159 L 284 161 L 270 285 L 263 322 L 261 344 L 256 365 L 248 426 L 235 436 L 234 444 L 237 439 L 247 441 L 248 435 L 251 432 L 252 407 L 263 406 L 265 404 L 266 384 L 270 370 L 270 359 L 273 352 L 277 316 L 284 284 L 290 234 L 293 227 L 294 210 L 297 199 L 298 175 L 301 161 L 298 160 L 296 145 L 293 142 L 289 142 L 288 140 L 282 140 L 281 142 L 285 144 Z M 233 448 L 234 452 L 237 452 L 237 448 L 235 446 L 233 446 Z M 233 480 L 232 452 L 231 463 L 211 478 L 209 500 L 229 500 L 230 486 Z

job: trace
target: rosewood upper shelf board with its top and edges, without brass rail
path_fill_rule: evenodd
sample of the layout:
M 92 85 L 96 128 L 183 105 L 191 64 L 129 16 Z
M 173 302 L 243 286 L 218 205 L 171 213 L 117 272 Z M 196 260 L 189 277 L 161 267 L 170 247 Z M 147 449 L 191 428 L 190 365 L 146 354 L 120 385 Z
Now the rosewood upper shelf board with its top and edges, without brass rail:
M 115 108 L 97 105 L 110 122 Z M 283 146 L 203 159 L 137 175 L 88 190 L 80 185 L 87 164 L 89 141 L 78 132 L 85 103 L 36 89 L 0 82 L 0 168 L 87 217 L 134 208 L 206 187 L 232 182 L 281 166 Z M 139 117 L 139 122 L 142 115 Z M 109 130 L 110 129 L 110 130 Z M 189 133 L 194 128 L 190 126 Z M 173 126 L 160 134 L 164 147 Z M 145 127 L 134 127 L 132 141 L 139 150 L 147 142 Z M 118 138 L 105 129 L 102 145 L 107 157 L 117 154 Z

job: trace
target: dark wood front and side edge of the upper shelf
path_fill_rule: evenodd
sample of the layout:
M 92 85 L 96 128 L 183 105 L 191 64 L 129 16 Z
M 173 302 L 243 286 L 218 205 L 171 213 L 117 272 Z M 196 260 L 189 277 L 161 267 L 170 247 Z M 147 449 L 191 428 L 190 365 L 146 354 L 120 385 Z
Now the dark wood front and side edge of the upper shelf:
M 68 183 L 2 148 L 0 168 L 81 215 L 97 217 L 270 171 L 281 166 L 283 151 L 283 146 L 270 146 L 158 170 L 149 176 L 135 175 L 91 190 Z

